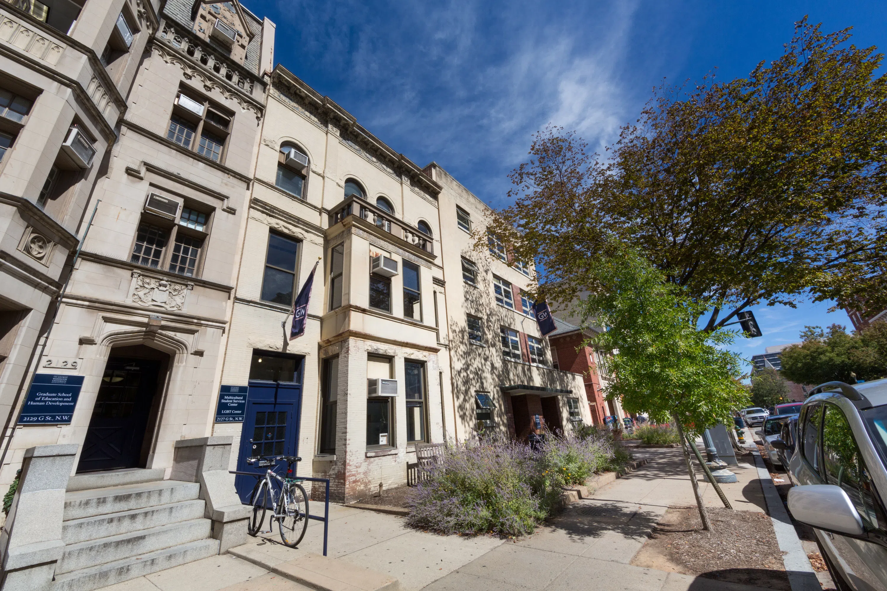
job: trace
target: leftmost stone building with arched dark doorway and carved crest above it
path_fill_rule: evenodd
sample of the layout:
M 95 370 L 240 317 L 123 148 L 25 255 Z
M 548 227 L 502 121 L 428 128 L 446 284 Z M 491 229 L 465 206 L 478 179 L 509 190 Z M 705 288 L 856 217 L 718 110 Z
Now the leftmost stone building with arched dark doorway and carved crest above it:
M 35 17 L 43 4 L 32 0 L 35 14 L 20 14 L 0 3 L 4 19 L 18 23 L 9 27 L 52 33 L 37 56 L 48 63 L 36 67 L 30 56 L 29 67 L 21 59 L 3 65 L 7 76 L 17 67 L 21 77 L 44 76 L 17 81 L 22 96 L 30 97 L 25 82 L 46 89 L 32 97 L 0 174 L 20 212 L 17 234 L 10 225 L 4 239 L 27 246 L 21 236 L 32 226 L 58 236 L 45 263 L 33 261 L 33 250 L 6 248 L 31 267 L 48 266 L 40 316 L 98 204 L 34 363 L 41 374 L 82 377 L 79 400 L 67 424 L 14 428 L 4 441 L 3 485 L 28 447 L 56 443 L 78 444 L 75 472 L 153 468 L 169 477 L 174 443 L 211 434 L 273 65 L 274 25 L 237 2 L 87 0 L 70 30 L 53 28 L 68 4 L 47 4 L 47 27 Z M 6 22 L 0 43 L 9 39 Z M 2 46 L 7 61 L 20 44 L 12 35 Z M 34 44 L 23 51 L 35 53 Z M 71 121 L 94 142 L 94 164 L 59 173 L 44 199 Z M 25 153 L 32 144 L 36 156 Z M 33 348 L 39 321 L 28 318 L 16 338 Z M 27 397 L 27 356 L 16 352 L 2 375 L 11 384 L 2 399 L 11 427 Z

